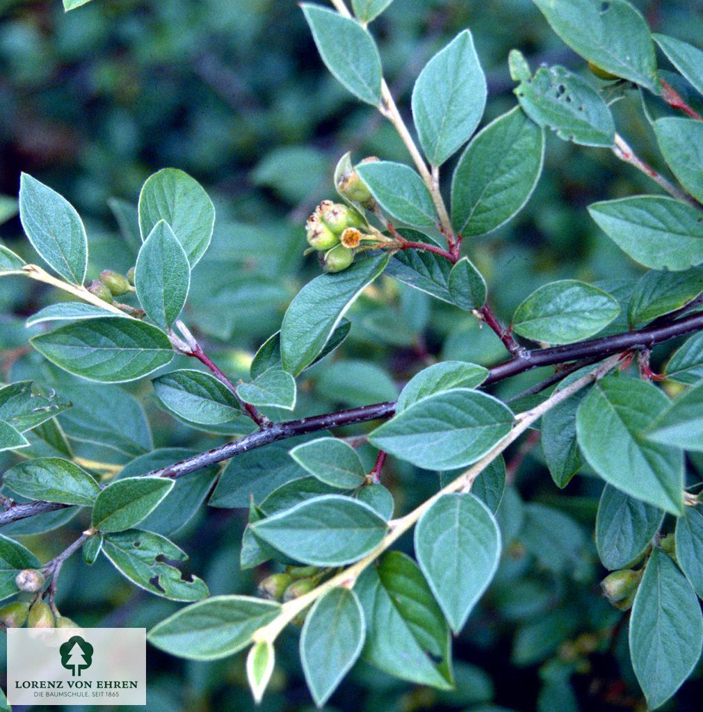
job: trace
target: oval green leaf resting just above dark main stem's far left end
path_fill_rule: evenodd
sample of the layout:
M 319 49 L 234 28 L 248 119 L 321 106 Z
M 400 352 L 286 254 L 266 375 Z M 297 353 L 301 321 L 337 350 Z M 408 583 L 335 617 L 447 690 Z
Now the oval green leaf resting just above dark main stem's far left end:
M 3 481 L 24 497 L 61 504 L 90 506 L 100 494 L 95 478 L 59 457 L 21 462 L 4 473 Z

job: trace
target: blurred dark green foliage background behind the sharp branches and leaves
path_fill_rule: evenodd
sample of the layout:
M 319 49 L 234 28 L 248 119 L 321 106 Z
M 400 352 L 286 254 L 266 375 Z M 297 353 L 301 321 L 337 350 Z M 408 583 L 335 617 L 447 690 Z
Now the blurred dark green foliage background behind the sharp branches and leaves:
M 692 18 L 703 7 L 695 0 L 635 4 L 652 29 L 700 40 L 700 24 Z M 422 66 L 465 27 L 474 33 L 489 83 L 484 124 L 516 103 L 507 70 L 511 48 L 521 49 L 533 68 L 544 61 L 586 72 L 530 0 L 395 0 L 373 33 L 406 115 Z M 640 96 L 631 93 L 613 109 L 618 130 L 666 173 Z M 355 103 L 328 74 L 291 0 L 93 0 L 69 14 L 59 0 L 0 0 L 0 194 L 16 195 L 19 174 L 26 171 L 73 202 L 88 225 L 89 276 L 95 278 L 105 268 L 126 271 L 135 258 L 108 199 L 135 204 L 142 182 L 162 167 L 192 174 L 217 206 L 217 225 L 194 272 L 185 320 L 235 376 L 246 377 L 256 347 L 278 329 L 288 301 L 318 272 L 314 258 L 302 256 L 303 223 L 317 201 L 333 197 L 332 170 L 348 150 L 356 160 L 377 155 L 407 162 L 390 125 Z M 585 206 L 642 192 L 657 191 L 608 150 L 549 135 L 545 171 L 526 209 L 468 246 L 499 315 L 509 320 L 528 293 L 558 278 L 625 288 L 642 271 L 600 233 Z M 0 237 L 29 258 L 19 219 L 1 226 Z M 75 379 L 40 365 L 24 348 L 24 318 L 56 298 L 21 278 L 0 284 L 4 382 L 32 377 L 69 394 L 80 392 Z M 348 342 L 332 361 L 306 372 L 295 417 L 395 397 L 397 384 L 432 360 L 488 365 L 504 358 L 499 340 L 479 330 L 471 315 L 431 303 L 390 278 L 364 295 L 350 315 Z M 655 352 L 654 365 L 671 349 Z M 174 366 L 193 367 L 185 359 Z M 499 393 L 516 394 L 543 376 L 528 373 L 501 384 Z M 157 447 L 204 449 L 222 441 L 161 412 L 148 382 L 129 390 L 147 410 Z M 133 458 L 104 444 L 74 445 L 88 459 L 126 464 Z M 11 462 L 0 459 L 0 471 Z M 405 464 L 391 462 L 386 473 L 397 512 L 438 485 L 435 473 Z M 538 448 L 513 460 L 513 475 L 517 487 L 506 491 L 499 513 L 508 534 L 504 562 L 454 647 L 457 691 L 410 686 L 360 664 L 329 710 L 637 707 L 626 639 L 620 635 L 610 644 L 620 614 L 598 592 L 602 572 L 592 532 L 601 484 L 576 478 L 567 496 L 558 496 Z M 537 518 L 523 500 L 550 506 L 552 520 Z M 568 526 L 558 518 L 564 514 Z M 204 577 L 213 594 L 252 592 L 265 573 L 239 571 L 245 516 L 201 507 L 174 536 L 191 556 L 189 570 Z M 28 523 L 3 533 L 30 535 L 25 543 L 48 558 L 75 538 L 81 524 L 79 517 L 51 537 L 31 536 L 36 529 Z M 410 541 L 401 546 L 410 550 Z M 59 606 L 93 626 L 150 627 L 175 609 L 135 589 L 104 559 L 90 570 L 75 557 L 61 575 Z M 589 643 L 578 643 L 580 634 L 595 634 L 598 651 L 585 651 Z M 311 705 L 296 645 L 295 634 L 281 639 L 264 712 Z M 240 654 L 195 664 L 150 649 L 147 708 L 249 710 L 243 661 Z M 699 709 L 702 693 L 699 671 L 671 708 Z

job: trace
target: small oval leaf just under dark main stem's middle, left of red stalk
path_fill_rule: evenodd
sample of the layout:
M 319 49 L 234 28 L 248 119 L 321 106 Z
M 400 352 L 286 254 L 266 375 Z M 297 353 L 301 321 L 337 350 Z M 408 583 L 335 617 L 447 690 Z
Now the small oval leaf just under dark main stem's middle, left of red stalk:
M 318 438 L 298 445 L 291 457 L 321 482 L 341 489 L 363 484 L 366 471 L 352 446 L 338 438 Z

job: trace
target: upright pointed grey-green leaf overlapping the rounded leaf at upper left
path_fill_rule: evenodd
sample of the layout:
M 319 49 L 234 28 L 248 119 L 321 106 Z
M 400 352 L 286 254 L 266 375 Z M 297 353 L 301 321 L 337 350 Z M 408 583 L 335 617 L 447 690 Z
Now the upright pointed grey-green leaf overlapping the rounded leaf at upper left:
M 137 256 L 137 299 L 157 326 L 170 329 L 181 313 L 189 287 L 188 257 L 170 225 L 160 220 Z

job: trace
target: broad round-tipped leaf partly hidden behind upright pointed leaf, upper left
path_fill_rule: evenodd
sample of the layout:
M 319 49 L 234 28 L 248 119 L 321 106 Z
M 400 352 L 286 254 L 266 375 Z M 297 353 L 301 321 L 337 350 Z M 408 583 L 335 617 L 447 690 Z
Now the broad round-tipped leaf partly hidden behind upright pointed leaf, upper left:
M 194 267 L 207 250 L 215 224 L 212 200 L 197 180 L 176 168 L 164 168 L 147 178 L 139 196 L 142 241 L 165 220 Z

